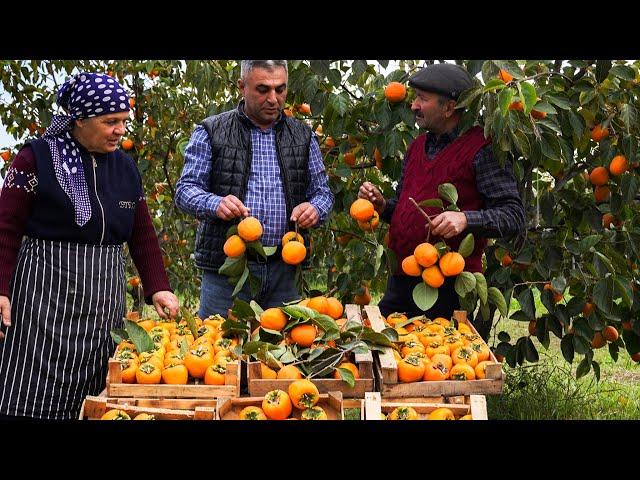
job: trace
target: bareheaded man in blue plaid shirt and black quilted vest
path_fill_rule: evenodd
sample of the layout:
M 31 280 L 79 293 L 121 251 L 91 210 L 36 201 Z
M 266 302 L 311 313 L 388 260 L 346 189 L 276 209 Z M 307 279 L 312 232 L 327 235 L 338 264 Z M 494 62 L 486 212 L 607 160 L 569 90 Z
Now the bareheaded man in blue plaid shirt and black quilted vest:
M 256 217 L 263 226 L 262 244 L 279 246 L 296 222 L 302 229 L 315 227 L 333 206 L 315 135 L 282 112 L 287 81 L 286 60 L 243 60 L 238 88 L 244 99 L 234 110 L 206 118 L 185 150 L 175 202 L 200 220 L 195 261 L 203 270 L 201 318 L 226 315 L 233 302 L 234 285 L 218 273 L 229 227 Z M 306 231 L 301 233 L 308 246 Z M 284 263 L 279 250 L 268 260 L 250 252 L 247 257 L 261 285 L 254 297 L 247 282 L 239 298 L 254 299 L 263 308 L 300 298 L 296 267 Z

